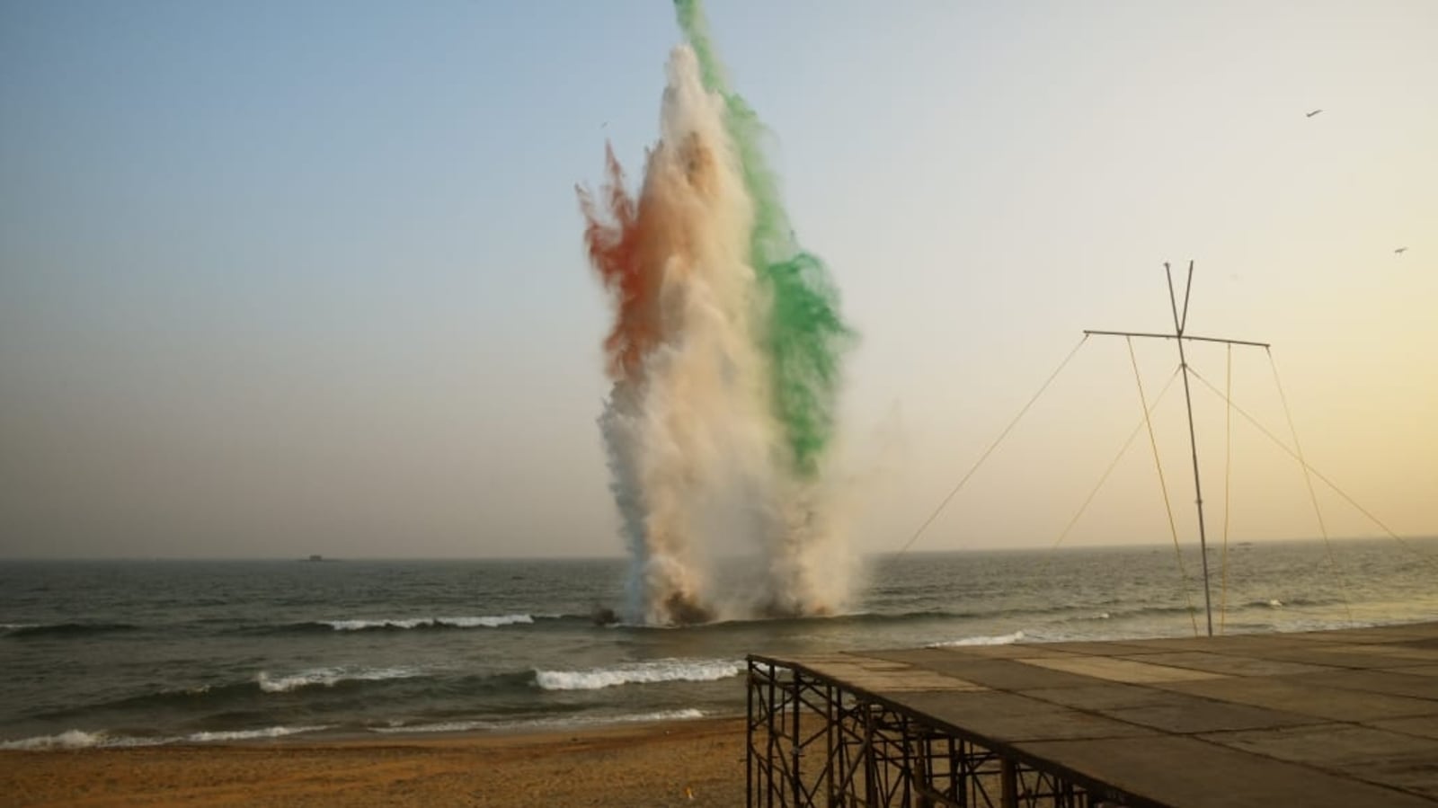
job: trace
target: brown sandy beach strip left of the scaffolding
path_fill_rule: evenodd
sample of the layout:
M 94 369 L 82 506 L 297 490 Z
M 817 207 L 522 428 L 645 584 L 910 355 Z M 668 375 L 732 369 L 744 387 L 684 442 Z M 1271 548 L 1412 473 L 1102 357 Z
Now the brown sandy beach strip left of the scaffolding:
M 544 735 L 0 752 L 0 804 L 684 805 L 743 802 L 743 719 Z

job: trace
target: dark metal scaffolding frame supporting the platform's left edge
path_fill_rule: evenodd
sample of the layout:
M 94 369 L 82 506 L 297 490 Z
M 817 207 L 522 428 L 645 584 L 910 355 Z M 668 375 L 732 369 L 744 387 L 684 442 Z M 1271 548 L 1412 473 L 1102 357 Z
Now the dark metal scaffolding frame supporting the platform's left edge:
M 749 808 L 1125 804 L 802 666 L 762 656 L 748 666 Z

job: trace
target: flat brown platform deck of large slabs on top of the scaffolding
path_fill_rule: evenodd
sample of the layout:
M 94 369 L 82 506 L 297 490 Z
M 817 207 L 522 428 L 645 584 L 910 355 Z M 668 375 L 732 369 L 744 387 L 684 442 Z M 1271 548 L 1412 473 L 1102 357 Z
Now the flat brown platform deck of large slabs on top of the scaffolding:
M 1133 804 L 1438 805 L 1438 623 L 766 658 Z

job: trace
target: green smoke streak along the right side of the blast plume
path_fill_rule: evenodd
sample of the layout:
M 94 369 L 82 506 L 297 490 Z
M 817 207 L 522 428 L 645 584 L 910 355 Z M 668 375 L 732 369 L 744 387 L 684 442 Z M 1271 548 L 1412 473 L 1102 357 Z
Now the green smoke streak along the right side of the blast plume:
M 818 256 L 802 250 L 764 157 L 764 124 L 729 89 L 699 0 L 674 0 L 679 27 L 699 59 L 705 86 L 725 101 L 725 128 L 739 151 L 754 204 L 749 260 L 769 296 L 764 336 L 772 358 L 775 410 L 784 423 L 795 472 L 814 477 L 834 436 L 840 357 L 854 332 L 838 313 L 838 289 Z

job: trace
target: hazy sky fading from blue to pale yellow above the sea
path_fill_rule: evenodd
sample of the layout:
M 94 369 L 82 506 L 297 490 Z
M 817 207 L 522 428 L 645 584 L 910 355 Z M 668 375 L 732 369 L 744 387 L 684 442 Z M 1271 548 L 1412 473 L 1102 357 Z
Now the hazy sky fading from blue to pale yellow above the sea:
M 1189 348 L 1211 541 L 1438 533 L 1438 4 L 709 17 L 860 334 L 857 551 L 1195 541 L 1175 342 L 1081 339 L 1171 331 L 1189 260 L 1188 334 L 1273 345 Z M 620 555 L 574 187 L 605 141 L 637 181 L 679 42 L 0 0 L 0 556 Z

